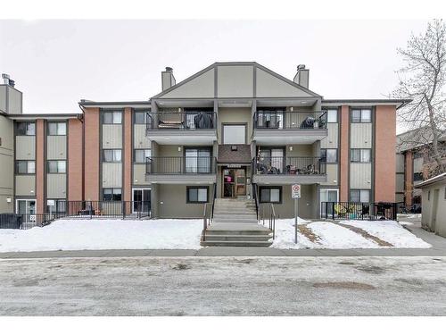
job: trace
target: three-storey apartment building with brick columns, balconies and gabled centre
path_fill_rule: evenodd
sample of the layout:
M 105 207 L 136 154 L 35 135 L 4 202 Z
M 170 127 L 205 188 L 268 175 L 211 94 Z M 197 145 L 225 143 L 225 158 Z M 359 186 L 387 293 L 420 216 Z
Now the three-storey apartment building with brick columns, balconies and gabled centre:
M 78 113 L 43 115 L 1 105 L 0 212 L 137 200 L 153 217 L 194 218 L 229 197 L 285 218 L 296 183 L 307 218 L 329 211 L 324 201 L 393 202 L 405 101 L 327 100 L 309 83 L 304 65 L 289 80 L 259 63 L 213 63 L 178 84 L 166 68 L 161 93 L 144 101 L 81 100 Z

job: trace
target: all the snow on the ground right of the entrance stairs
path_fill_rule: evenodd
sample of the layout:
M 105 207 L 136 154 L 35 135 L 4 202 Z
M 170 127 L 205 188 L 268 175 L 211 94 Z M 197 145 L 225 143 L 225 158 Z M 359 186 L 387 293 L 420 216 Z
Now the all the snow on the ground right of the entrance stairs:
M 303 220 L 299 224 L 302 224 Z M 391 243 L 394 247 L 431 247 L 422 239 L 405 230 L 397 222 L 389 221 L 346 221 L 343 222 L 366 230 L 370 235 L 376 236 Z M 320 239 L 311 241 L 299 230 L 297 232 L 297 244 L 294 244 L 293 219 L 276 220 L 276 239 L 272 247 L 281 249 L 300 248 L 379 248 L 375 241 L 366 239 L 361 235 L 339 226 L 333 222 L 310 222 L 307 227 Z

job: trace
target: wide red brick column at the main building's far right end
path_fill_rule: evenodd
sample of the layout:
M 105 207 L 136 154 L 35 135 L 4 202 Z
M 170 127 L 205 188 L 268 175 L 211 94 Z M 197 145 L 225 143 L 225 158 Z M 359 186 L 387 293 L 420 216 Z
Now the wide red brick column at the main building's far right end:
M 375 113 L 375 201 L 395 201 L 396 108 L 377 105 Z

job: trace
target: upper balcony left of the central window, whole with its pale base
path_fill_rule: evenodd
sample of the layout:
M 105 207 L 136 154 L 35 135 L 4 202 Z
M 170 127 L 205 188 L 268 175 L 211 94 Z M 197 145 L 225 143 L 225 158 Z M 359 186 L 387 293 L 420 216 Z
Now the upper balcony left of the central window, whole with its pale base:
M 149 112 L 146 136 L 161 145 L 212 145 L 217 140 L 217 113 Z

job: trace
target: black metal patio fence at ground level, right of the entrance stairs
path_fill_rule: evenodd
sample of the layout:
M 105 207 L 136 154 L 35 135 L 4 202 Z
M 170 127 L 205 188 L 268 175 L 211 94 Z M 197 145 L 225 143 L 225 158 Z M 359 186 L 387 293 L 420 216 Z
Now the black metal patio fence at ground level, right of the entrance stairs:
M 396 221 L 397 203 L 323 202 L 320 216 L 331 220 Z

